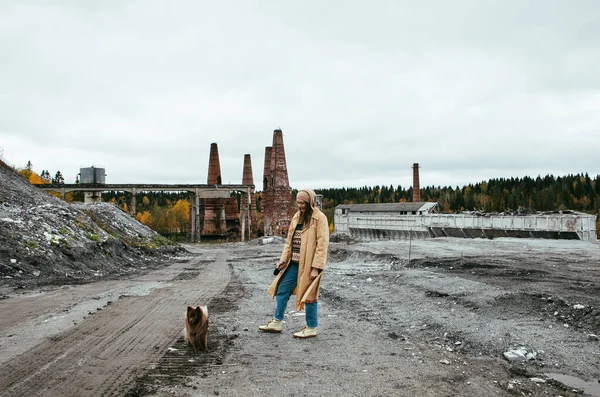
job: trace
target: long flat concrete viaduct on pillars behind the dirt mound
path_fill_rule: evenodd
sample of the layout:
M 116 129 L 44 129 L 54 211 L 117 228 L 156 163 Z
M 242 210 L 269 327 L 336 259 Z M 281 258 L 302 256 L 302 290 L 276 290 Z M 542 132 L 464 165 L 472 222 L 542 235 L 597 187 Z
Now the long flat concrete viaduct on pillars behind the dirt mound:
M 247 203 L 248 208 L 240 209 L 240 228 L 241 240 L 244 241 L 246 230 L 248 231 L 248 239 L 250 239 L 252 225 L 250 217 L 251 208 L 251 193 L 254 192 L 254 185 L 163 185 L 163 184 L 104 184 L 104 183 L 79 183 L 79 184 L 41 184 L 36 185 L 38 188 L 47 192 L 60 193 L 64 200 L 65 194 L 73 191 L 102 193 L 109 191 L 121 191 L 131 193 L 131 211 L 136 213 L 135 195 L 140 192 L 190 192 L 192 194 L 190 208 L 190 224 L 192 241 L 197 242 L 200 239 L 199 225 L 200 219 L 200 200 L 206 199 L 228 199 L 231 193 L 241 193 L 247 195 L 247 200 L 242 200 Z M 247 226 L 247 227 L 246 227 Z

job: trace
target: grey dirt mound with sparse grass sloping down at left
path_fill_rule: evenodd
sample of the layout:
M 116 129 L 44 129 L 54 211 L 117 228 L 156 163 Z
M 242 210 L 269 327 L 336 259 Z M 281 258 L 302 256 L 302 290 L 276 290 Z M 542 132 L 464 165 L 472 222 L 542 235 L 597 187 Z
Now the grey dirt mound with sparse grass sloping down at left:
M 88 282 L 180 251 L 115 205 L 70 205 L 0 162 L 0 287 Z

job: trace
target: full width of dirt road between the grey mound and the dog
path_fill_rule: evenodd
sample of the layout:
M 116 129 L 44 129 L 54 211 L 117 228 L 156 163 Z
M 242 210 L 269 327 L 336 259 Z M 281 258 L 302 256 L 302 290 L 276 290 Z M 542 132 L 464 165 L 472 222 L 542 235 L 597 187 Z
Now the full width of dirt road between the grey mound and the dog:
M 230 279 L 226 257 L 194 256 L 137 279 L 5 299 L 0 394 L 125 395 L 181 338 L 186 305 Z

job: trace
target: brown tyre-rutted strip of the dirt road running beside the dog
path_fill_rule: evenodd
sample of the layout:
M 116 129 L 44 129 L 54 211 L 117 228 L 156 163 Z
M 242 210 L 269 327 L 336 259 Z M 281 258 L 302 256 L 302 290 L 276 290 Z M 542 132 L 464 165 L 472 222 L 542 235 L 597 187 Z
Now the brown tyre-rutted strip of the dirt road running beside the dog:
M 225 256 L 202 263 L 195 278 L 119 299 L 4 363 L 0 396 L 124 395 L 180 338 L 186 305 L 208 302 L 225 289 L 231 279 Z

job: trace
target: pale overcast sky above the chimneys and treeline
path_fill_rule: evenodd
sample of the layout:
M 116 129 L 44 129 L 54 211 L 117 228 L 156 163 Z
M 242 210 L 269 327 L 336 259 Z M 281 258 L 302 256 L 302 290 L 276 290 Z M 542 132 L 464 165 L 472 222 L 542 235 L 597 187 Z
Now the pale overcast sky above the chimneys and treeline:
M 600 173 L 600 1 L 0 2 L 5 162 L 107 183 Z

